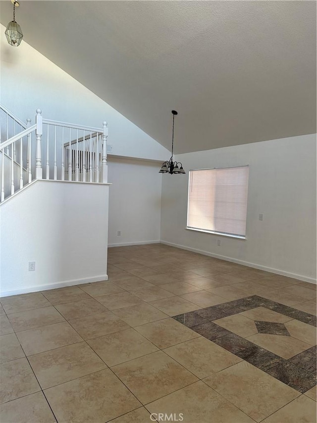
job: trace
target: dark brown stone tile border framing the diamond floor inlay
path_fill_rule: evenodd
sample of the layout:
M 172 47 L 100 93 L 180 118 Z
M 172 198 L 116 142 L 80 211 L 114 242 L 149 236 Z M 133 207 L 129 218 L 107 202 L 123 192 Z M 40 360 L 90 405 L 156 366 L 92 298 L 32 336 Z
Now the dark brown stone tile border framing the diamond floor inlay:
M 173 318 L 297 391 L 308 391 L 316 385 L 316 346 L 285 360 L 212 322 L 256 307 L 265 307 L 316 327 L 313 314 L 258 295 L 200 308 Z

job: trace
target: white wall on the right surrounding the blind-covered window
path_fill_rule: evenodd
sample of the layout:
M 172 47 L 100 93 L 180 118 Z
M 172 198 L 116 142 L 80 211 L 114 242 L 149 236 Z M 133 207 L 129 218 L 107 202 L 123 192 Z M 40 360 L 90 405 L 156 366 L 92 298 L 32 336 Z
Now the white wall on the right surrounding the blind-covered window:
M 177 161 L 187 174 L 163 176 L 163 242 L 316 282 L 316 135 L 187 153 Z M 246 164 L 247 240 L 186 230 L 188 171 Z

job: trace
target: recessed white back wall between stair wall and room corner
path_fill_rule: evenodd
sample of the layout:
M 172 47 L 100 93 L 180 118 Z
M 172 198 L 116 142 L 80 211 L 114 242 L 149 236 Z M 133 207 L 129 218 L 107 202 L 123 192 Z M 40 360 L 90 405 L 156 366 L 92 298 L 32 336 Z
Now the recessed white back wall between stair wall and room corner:
M 110 158 L 109 246 L 159 242 L 161 164 Z M 121 231 L 121 236 L 117 236 Z

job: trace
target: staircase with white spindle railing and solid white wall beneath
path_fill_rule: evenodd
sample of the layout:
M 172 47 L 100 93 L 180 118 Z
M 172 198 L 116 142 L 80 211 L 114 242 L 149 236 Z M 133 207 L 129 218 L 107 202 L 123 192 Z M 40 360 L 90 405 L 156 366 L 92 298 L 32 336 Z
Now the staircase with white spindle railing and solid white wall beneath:
M 0 297 L 107 280 L 107 123 L 32 123 L 0 105 Z

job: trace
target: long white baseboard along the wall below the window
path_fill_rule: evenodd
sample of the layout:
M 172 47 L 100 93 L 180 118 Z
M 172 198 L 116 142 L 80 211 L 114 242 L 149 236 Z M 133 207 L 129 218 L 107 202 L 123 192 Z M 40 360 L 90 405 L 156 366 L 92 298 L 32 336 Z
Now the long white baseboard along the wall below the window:
M 287 277 L 293 278 L 293 279 L 299 279 L 300 281 L 310 282 L 311 284 L 317 284 L 316 279 L 310 278 L 308 276 L 298 275 L 296 273 L 286 272 L 284 270 L 274 269 L 272 267 L 262 266 L 261 264 L 250 263 L 249 261 L 239 260 L 239 259 L 236 259 L 236 258 L 227 257 L 227 256 L 220 255 L 220 254 L 213 254 L 209 251 L 204 251 L 204 250 L 200 250 L 200 249 L 197 249 L 197 248 L 191 248 L 191 247 L 187 247 L 185 245 L 175 244 L 173 242 L 160 241 L 160 243 L 165 244 L 165 245 L 170 245 L 170 246 L 176 247 L 176 248 L 181 248 L 181 249 L 184 249 L 184 250 L 187 250 L 187 251 L 198 252 L 199 254 L 208 255 L 209 257 L 219 258 L 220 260 L 231 261 L 232 263 L 237 263 L 237 264 L 242 264 L 244 266 L 253 267 L 254 269 L 260 269 L 260 270 L 265 270 L 266 272 L 276 273 L 277 275 L 287 276 Z

